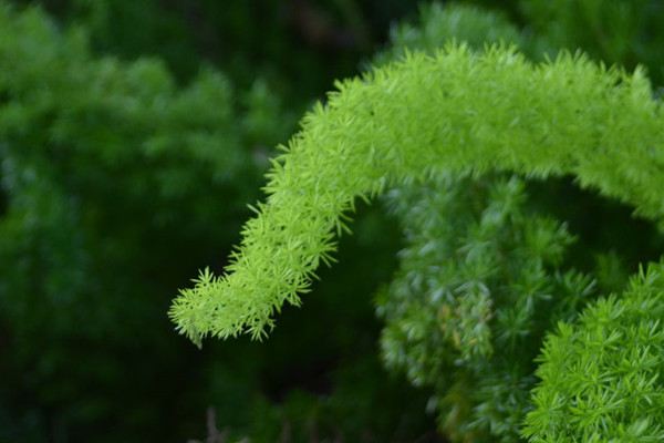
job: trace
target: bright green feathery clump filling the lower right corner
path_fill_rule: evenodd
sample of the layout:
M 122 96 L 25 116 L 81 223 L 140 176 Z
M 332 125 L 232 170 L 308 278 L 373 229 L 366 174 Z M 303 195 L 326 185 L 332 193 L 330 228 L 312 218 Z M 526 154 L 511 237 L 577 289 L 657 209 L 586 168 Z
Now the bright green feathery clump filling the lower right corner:
M 547 338 L 531 442 L 661 442 L 664 439 L 664 279 L 654 264 L 625 293 L 587 309 Z

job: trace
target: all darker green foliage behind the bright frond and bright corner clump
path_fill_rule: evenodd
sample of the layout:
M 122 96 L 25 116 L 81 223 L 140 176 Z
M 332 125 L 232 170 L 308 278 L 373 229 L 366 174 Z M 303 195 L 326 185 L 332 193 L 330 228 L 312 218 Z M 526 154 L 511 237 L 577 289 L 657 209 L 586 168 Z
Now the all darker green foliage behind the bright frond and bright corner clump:
M 519 441 L 544 333 L 663 245 L 569 179 L 395 188 L 264 343 L 166 317 L 335 78 L 456 39 L 664 81 L 660 1 L 466 3 L 0 3 L 0 442 Z

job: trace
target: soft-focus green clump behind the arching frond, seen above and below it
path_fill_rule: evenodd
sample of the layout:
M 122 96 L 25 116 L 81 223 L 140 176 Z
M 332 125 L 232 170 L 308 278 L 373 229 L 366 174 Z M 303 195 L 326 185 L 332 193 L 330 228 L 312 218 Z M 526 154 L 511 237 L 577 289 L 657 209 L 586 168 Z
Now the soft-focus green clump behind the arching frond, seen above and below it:
M 463 4 L 434 4 L 423 9 L 418 25 L 403 25 L 393 32 L 393 49 L 381 54 L 378 61 L 384 63 L 386 55 L 402 56 L 405 48 L 433 54 L 446 41 L 459 37 L 476 49 L 491 42 L 518 43 L 531 58 L 537 58 L 543 47 L 543 41 L 518 32 L 500 16 Z M 407 373 L 414 384 L 429 387 L 430 404 L 437 405 L 440 429 L 453 441 L 520 441 L 518 430 L 525 412 L 531 408 L 532 360 L 543 333 L 553 319 L 573 318 L 581 306 L 579 297 L 589 292 L 590 277 L 574 277 L 575 272 L 570 272 L 563 278 L 557 272 L 552 285 L 551 276 L 537 267 L 542 262 L 537 254 L 521 261 L 532 239 L 527 235 L 532 231 L 530 225 L 523 226 L 523 214 L 529 214 L 529 223 L 538 223 L 542 210 L 556 214 L 570 219 L 575 233 L 583 234 L 582 241 L 574 241 L 573 250 L 566 248 L 566 260 L 560 255 L 554 264 L 557 269 L 573 264 L 592 272 L 594 292 L 622 290 L 629 274 L 625 260 L 639 262 L 647 249 L 643 244 L 637 246 L 636 236 L 625 238 L 621 234 L 624 222 L 621 226 L 615 213 L 606 213 L 606 202 L 598 202 L 591 195 L 574 196 L 571 187 L 556 192 L 550 181 L 523 183 L 512 176 L 511 182 L 519 185 L 512 186 L 511 193 L 512 197 L 521 197 L 517 198 L 519 204 L 496 197 L 490 204 L 484 202 L 488 197 L 478 189 L 506 187 L 496 183 L 495 177 L 486 176 L 478 184 L 449 176 L 426 184 L 401 184 L 388 192 L 391 206 L 396 206 L 395 214 L 406 233 L 406 248 L 400 253 L 401 269 L 390 290 L 380 297 L 378 313 L 386 321 L 383 357 L 390 368 Z M 523 185 L 526 194 L 535 193 L 535 199 L 525 202 L 520 189 Z M 557 199 L 562 200 L 562 208 L 581 215 L 570 217 L 566 210 L 556 208 Z M 580 207 L 594 210 L 580 212 Z M 502 230 L 491 231 L 483 225 L 491 214 L 490 208 L 504 213 L 498 217 L 505 220 L 500 225 Z M 485 213 L 479 214 L 480 209 Z M 588 214 L 594 217 L 589 218 Z M 584 218 L 582 223 L 580 217 Z M 599 218 L 601 226 L 584 226 L 588 219 Z M 546 223 L 541 225 L 543 231 L 554 233 Z M 591 236 L 602 240 L 593 244 Z M 562 237 L 548 245 L 550 251 L 560 253 L 569 243 Z M 616 237 L 630 244 L 620 246 L 620 255 L 612 249 L 619 247 Z M 652 238 L 646 241 L 653 244 Z M 481 253 L 469 256 L 467 251 L 477 250 L 477 245 L 483 247 Z M 626 254 L 634 248 L 639 251 L 635 259 Z M 542 248 L 542 253 L 546 250 Z M 475 270 L 477 261 L 481 264 L 480 271 Z M 538 270 L 533 271 L 531 265 Z M 551 267 L 549 262 L 543 269 Z M 528 285 L 510 284 L 513 276 L 509 272 L 515 271 L 522 272 Z M 454 290 L 466 287 L 481 291 Z M 538 306 L 529 298 L 520 300 L 518 295 L 528 293 L 523 288 L 532 287 L 547 289 L 544 303 L 539 300 Z M 511 300 L 502 297 L 499 299 L 502 305 L 497 303 L 495 296 L 505 290 L 515 297 Z M 518 348 L 495 339 L 505 337 L 501 329 L 506 327 L 513 329 L 512 337 L 519 337 Z M 475 352 L 477 347 L 484 352 L 469 359 L 466 354 Z M 495 354 L 494 349 L 501 352 Z

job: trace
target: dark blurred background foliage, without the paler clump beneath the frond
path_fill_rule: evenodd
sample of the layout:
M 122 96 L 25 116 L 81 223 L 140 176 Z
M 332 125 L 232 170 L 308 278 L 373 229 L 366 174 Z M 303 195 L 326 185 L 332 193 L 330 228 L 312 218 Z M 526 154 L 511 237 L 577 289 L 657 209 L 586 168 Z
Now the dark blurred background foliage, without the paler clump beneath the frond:
M 412 0 L 0 1 L 0 442 L 446 442 L 430 392 L 381 361 L 373 298 L 403 240 L 377 204 L 266 342 L 198 350 L 166 312 L 224 268 L 334 79 L 508 35 L 662 84 L 661 1 L 466 3 L 495 21 Z

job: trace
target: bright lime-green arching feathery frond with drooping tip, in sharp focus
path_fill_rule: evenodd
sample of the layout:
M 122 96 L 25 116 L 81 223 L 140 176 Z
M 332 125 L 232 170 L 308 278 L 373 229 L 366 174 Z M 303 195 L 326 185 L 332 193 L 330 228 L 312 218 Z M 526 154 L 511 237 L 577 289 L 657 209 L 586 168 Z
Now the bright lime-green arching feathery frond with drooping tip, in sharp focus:
M 338 84 L 270 173 L 229 274 L 186 289 L 170 310 L 195 341 L 261 338 L 299 303 L 334 250 L 355 197 L 442 171 L 571 174 L 653 218 L 664 213 L 664 117 L 641 71 L 563 54 L 532 65 L 513 49 L 449 47 Z

